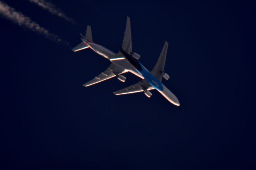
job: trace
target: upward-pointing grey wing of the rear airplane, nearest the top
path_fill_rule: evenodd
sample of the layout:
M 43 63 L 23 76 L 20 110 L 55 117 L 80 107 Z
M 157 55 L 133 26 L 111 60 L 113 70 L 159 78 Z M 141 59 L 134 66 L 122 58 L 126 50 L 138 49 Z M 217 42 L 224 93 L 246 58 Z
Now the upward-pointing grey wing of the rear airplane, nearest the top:
M 130 18 L 127 16 L 126 28 L 124 32 L 124 39 L 122 44 L 122 49 L 128 54 L 132 52 L 132 33 L 131 33 L 131 22 Z

